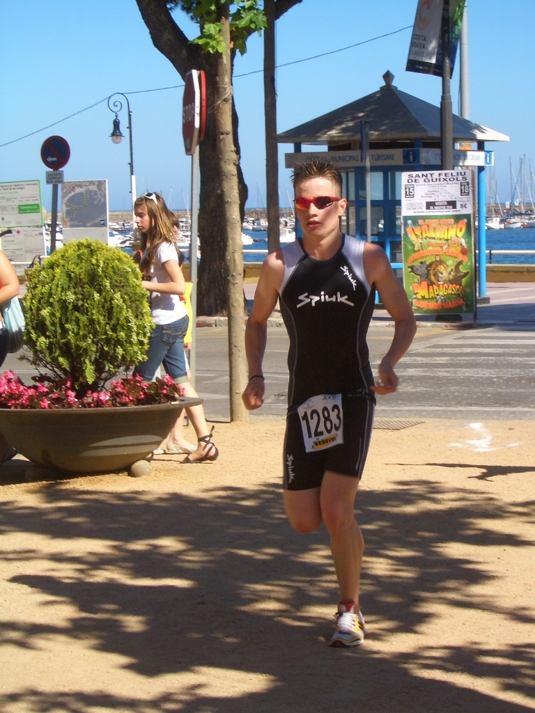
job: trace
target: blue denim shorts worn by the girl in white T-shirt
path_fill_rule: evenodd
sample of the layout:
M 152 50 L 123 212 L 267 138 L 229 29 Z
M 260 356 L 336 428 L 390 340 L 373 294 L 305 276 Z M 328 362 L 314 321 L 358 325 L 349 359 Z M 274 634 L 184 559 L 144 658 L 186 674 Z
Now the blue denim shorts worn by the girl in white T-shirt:
M 170 324 L 156 324 L 148 343 L 147 359 L 134 369 L 135 376 L 151 381 L 160 364 L 177 384 L 188 381 L 185 364 L 184 337 L 190 318 L 187 314 Z

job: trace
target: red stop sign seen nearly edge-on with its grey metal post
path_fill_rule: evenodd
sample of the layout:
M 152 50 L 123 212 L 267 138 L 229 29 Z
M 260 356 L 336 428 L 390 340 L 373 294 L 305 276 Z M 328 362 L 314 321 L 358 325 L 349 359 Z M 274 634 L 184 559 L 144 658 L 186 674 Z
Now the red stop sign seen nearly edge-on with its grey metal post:
M 204 138 L 206 125 L 206 80 L 202 70 L 192 69 L 185 77 L 182 101 L 182 135 L 186 155 L 191 160 L 191 238 L 190 238 L 190 280 L 191 312 L 193 329 L 191 332 L 190 371 L 191 382 L 195 387 L 196 334 L 197 320 L 197 243 L 199 209 L 199 143 Z

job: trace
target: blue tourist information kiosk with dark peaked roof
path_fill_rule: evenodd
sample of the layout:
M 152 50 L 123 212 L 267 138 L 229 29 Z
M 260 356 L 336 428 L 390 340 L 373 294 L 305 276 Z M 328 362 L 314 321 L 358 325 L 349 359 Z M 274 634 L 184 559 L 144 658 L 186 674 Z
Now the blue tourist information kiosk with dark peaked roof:
M 370 128 L 370 198 L 372 241 L 387 252 L 398 277 L 402 278 L 402 172 L 439 170 L 440 110 L 417 97 L 399 91 L 394 76 L 383 75 L 384 86 L 346 106 L 280 133 L 279 143 L 293 143 L 293 153 L 285 156 L 286 168 L 319 155 L 330 158 L 340 168 L 347 210 L 342 232 L 366 240 L 366 173 L 361 156 L 361 122 Z M 454 150 L 454 165 L 474 170 L 477 186 L 477 250 L 479 250 L 479 297 L 486 295 L 485 260 L 485 166 L 493 165 L 494 153 L 485 150 L 486 141 L 508 141 L 509 136 L 459 116 L 453 117 L 454 142 L 470 143 L 474 150 Z M 315 153 L 303 145 L 326 145 Z M 298 230 L 298 226 L 297 226 Z

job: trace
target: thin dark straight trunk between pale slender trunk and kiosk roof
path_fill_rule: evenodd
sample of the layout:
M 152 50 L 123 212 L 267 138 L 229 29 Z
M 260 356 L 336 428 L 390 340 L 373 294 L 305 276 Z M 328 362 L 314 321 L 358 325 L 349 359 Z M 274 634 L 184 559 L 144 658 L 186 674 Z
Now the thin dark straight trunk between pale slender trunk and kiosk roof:
M 277 147 L 277 93 L 275 91 L 275 0 L 264 0 L 265 186 L 267 200 L 267 251 L 280 247 L 279 158 Z

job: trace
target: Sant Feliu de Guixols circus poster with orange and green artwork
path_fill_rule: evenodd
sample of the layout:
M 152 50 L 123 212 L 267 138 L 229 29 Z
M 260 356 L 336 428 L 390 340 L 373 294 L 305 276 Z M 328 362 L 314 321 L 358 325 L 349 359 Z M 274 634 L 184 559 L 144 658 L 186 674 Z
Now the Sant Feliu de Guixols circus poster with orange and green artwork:
M 402 173 L 403 282 L 415 314 L 470 314 L 472 170 Z

